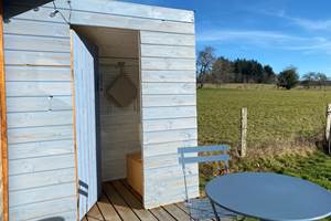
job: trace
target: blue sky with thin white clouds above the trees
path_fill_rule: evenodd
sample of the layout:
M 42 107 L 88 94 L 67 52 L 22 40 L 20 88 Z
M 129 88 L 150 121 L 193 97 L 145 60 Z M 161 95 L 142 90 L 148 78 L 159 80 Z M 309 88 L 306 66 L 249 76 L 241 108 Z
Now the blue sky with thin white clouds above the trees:
M 127 0 L 195 11 L 196 50 L 331 77 L 331 0 Z

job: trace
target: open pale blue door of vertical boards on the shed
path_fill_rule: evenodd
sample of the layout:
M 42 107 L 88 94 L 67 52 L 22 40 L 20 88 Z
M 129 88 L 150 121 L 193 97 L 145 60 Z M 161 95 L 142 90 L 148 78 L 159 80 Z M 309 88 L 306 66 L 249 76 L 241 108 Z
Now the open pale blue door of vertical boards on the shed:
M 98 199 L 99 150 L 97 141 L 97 48 L 71 30 L 75 96 L 75 136 L 79 220 Z

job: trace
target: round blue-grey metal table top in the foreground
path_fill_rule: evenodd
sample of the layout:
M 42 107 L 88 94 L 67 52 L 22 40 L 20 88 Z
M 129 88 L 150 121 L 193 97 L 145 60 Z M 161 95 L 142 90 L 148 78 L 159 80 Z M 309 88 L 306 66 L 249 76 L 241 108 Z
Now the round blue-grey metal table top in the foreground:
M 319 220 L 331 215 L 331 192 L 300 178 L 270 172 L 217 177 L 205 188 L 216 204 L 261 220 Z

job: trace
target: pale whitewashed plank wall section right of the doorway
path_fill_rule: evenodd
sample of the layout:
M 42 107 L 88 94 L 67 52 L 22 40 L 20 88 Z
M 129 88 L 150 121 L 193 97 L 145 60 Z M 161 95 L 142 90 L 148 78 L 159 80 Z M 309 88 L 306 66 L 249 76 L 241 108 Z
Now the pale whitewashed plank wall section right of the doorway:
M 191 23 L 186 23 L 191 25 Z M 145 207 L 182 201 L 178 148 L 195 146 L 194 31 L 141 31 Z M 197 167 L 190 167 L 189 193 L 199 196 Z

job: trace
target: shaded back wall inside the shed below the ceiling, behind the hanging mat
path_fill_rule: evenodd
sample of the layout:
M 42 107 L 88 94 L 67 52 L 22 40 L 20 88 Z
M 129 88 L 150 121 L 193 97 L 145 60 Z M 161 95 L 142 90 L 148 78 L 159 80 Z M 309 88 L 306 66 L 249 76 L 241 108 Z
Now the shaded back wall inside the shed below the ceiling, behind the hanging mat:
M 104 92 L 100 92 L 103 180 L 126 177 L 126 156 L 141 150 L 139 140 L 140 101 L 137 97 L 128 107 L 118 107 L 105 95 L 107 86 L 120 74 L 117 62 L 126 62 L 127 76 L 139 87 L 137 60 L 102 59 Z

